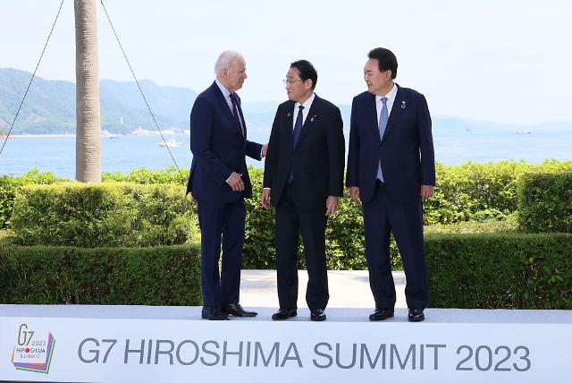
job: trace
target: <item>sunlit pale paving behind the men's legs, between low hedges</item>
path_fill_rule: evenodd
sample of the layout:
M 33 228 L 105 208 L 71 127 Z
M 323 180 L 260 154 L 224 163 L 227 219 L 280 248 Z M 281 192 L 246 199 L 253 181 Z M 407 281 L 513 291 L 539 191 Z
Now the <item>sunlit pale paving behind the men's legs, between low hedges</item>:
M 299 270 L 298 307 L 307 307 L 307 272 Z M 396 308 L 405 308 L 405 274 L 393 273 L 397 291 Z M 369 308 L 375 306 L 369 288 L 367 271 L 328 271 L 330 302 L 328 308 Z M 240 282 L 240 303 L 244 307 L 278 307 L 276 294 L 276 270 L 242 270 Z

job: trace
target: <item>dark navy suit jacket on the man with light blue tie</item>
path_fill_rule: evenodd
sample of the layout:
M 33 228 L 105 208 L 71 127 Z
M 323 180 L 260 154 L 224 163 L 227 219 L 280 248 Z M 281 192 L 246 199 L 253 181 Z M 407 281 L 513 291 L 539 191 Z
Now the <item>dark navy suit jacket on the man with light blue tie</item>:
M 374 94 L 364 92 L 353 99 L 346 186 L 359 187 L 363 202 L 371 200 L 381 159 L 390 199 L 420 199 L 421 185 L 435 184 L 431 116 L 425 97 L 398 86 L 382 140 L 378 118 Z

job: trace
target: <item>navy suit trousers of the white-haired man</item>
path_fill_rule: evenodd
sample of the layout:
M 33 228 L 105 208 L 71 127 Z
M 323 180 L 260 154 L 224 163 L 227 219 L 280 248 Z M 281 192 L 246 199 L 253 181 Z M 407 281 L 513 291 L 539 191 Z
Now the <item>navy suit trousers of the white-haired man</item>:
M 198 201 L 201 234 L 201 284 L 206 306 L 238 303 L 240 300 L 240 263 L 244 245 L 246 205 L 234 202 Z M 223 244 L 223 261 L 219 260 Z

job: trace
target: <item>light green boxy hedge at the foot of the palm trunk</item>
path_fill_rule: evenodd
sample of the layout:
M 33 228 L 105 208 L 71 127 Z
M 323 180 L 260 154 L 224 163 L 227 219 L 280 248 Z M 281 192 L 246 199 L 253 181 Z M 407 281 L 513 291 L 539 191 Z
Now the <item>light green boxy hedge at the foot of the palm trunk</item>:
M 60 183 L 17 192 L 15 243 L 80 247 L 146 247 L 197 236 L 192 202 L 172 184 Z

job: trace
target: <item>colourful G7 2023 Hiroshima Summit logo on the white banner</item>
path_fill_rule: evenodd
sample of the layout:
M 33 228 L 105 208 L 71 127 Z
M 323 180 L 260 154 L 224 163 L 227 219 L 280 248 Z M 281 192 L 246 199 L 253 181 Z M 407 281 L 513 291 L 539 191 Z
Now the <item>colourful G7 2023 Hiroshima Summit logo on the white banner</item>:
M 55 337 L 48 332 L 39 337 L 22 323 L 18 331 L 18 345 L 14 345 L 12 360 L 16 370 L 47 374 L 54 355 Z

